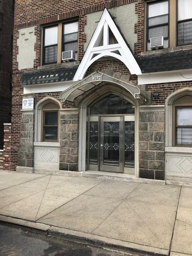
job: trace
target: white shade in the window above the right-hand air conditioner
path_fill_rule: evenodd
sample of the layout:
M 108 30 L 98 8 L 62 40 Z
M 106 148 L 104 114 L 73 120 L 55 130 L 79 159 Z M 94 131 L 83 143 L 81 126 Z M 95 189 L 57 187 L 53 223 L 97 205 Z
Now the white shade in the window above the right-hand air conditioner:
M 148 18 L 163 14 L 168 14 L 168 1 L 156 4 L 149 4 Z

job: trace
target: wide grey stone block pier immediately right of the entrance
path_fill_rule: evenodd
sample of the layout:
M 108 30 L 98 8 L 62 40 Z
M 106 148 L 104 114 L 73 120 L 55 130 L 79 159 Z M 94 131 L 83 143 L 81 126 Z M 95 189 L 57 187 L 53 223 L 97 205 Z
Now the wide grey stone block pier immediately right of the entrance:
M 139 123 L 140 178 L 164 180 L 165 166 L 164 111 L 142 111 Z

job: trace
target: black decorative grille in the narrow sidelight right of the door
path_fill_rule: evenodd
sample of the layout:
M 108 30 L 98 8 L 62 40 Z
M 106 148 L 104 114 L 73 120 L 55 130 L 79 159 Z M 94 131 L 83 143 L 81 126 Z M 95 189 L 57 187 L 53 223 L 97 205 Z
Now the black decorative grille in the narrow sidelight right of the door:
M 125 122 L 125 167 L 135 167 L 135 122 Z

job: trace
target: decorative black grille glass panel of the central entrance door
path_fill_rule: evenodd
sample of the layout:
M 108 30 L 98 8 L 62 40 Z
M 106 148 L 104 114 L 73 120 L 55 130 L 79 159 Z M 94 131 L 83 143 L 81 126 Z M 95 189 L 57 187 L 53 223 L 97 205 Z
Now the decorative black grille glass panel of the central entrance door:
M 119 128 L 119 122 L 104 122 L 104 165 L 119 166 Z

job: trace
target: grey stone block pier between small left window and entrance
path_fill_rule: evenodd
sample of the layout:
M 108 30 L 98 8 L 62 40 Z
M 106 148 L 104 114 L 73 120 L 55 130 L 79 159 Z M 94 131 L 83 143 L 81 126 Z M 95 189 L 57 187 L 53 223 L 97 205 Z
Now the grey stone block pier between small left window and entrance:
M 60 170 L 78 170 L 78 110 L 60 111 Z

